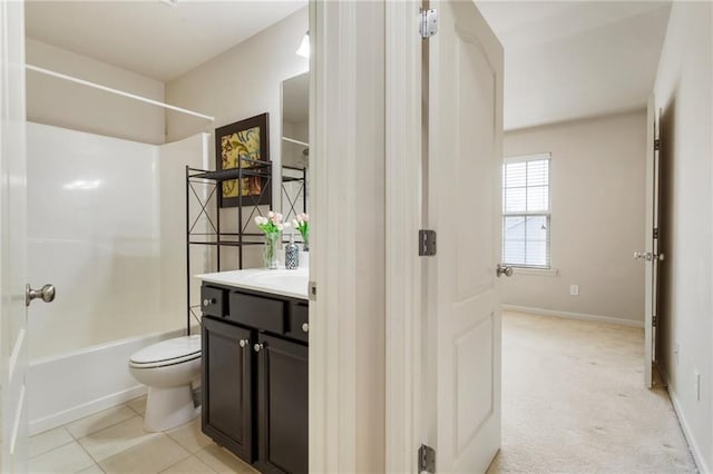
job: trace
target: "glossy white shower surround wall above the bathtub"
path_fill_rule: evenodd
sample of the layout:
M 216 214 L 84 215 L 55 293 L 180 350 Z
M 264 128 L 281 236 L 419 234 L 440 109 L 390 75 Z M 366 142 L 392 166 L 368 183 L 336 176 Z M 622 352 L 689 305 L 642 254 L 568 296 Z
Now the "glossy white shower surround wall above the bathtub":
M 185 326 L 184 167 L 207 135 L 154 146 L 28 124 L 30 359 Z

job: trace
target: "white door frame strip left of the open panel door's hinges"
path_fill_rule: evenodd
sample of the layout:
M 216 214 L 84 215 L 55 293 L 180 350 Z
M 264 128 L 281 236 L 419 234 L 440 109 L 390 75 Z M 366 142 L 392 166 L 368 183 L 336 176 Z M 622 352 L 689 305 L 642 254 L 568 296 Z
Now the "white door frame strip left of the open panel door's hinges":
M 387 472 L 417 472 L 424 261 L 420 1 L 387 2 Z

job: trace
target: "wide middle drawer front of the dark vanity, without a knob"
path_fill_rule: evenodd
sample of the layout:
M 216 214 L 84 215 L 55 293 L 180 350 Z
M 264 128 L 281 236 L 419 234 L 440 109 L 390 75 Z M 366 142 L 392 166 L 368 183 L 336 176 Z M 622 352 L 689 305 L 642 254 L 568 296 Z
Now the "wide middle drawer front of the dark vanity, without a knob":
M 244 293 L 231 293 L 228 319 L 257 329 L 284 334 L 285 303 Z

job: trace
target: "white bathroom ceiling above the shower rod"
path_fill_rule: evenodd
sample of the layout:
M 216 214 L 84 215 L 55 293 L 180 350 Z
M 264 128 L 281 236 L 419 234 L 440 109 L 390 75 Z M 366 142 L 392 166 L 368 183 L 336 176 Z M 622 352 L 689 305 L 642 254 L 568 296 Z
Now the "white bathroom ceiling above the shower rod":
M 160 0 L 26 2 L 28 37 L 160 80 L 175 79 L 307 4 Z

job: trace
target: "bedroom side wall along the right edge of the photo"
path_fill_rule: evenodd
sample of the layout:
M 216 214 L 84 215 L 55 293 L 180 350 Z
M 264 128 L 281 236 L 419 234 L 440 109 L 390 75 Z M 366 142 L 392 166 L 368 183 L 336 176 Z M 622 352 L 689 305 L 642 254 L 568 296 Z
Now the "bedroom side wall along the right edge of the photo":
M 713 468 L 713 7 L 674 2 L 655 83 L 663 109 L 666 260 L 660 362 L 668 392 L 703 472 Z M 666 244 L 664 244 L 666 243 Z M 678 355 L 673 350 L 680 347 Z M 693 391 L 701 374 L 700 401 Z

